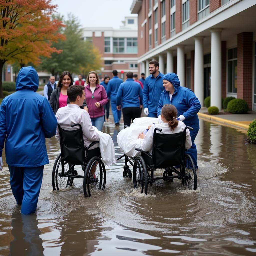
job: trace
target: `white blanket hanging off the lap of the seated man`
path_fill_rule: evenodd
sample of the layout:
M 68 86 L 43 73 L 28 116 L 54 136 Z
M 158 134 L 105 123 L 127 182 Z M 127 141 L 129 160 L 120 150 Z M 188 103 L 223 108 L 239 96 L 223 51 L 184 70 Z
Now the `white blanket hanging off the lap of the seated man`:
M 116 162 L 115 159 L 115 147 L 111 136 L 107 133 L 98 131 L 98 129 L 93 126 L 93 128 L 100 135 L 100 153 L 102 162 L 110 166 Z

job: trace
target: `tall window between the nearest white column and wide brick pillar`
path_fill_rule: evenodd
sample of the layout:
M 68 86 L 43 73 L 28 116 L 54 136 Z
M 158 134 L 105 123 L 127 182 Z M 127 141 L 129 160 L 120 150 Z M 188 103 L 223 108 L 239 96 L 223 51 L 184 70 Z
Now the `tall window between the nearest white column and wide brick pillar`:
M 237 48 L 228 49 L 228 92 L 237 93 Z

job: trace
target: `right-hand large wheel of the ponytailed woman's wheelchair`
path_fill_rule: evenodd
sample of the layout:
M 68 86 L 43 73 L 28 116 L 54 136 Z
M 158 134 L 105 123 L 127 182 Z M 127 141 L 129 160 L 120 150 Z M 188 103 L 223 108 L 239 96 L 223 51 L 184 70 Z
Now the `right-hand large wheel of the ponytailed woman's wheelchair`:
M 185 154 L 185 185 L 189 189 L 196 190 L 197 187 L 197 176 L 196 168 L 193 159 L 190 155 Z

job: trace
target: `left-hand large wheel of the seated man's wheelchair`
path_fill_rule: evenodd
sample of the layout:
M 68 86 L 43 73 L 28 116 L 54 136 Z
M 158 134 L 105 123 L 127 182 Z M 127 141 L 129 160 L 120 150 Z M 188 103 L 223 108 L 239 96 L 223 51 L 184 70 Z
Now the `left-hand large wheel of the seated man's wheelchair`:
M 64 173 L 66 173 L 69 170 L 69 164 L 64 164 Z M 72 179 L 72 180 L 71 180 Z M 67 188 L 70 186 L 70 183 L 72 185 L 73 178 L 69 177 L 63 177 L 62 176 L 62 170 L 61 170 L 61 158 L 60 154 L 57 156 L 53 169 L 52 169 L 52 188 L 53 190 L 60 190 L 61 188 Z

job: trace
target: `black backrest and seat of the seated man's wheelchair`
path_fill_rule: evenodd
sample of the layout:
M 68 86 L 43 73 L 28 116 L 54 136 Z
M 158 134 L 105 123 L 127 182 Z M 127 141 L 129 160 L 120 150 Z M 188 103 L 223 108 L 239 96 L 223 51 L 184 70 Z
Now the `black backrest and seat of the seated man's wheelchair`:
M 101 158 L 99 147 L 92 150 L 87 150 L 90 146 L 92 146 L 92 144 L 95 144 L 94 142 L 91 143 L 89 147 L 84 147 L 82 127 L 80 124 L 75 125 L 79 125 L 80 129 L 68 131 L 62 129 L 58 124 L 61 158 L 70 164 L 76 165 L 84 165 L 84 163 L 86 163 L 88 159 L 93 156 L 99 156 Z M 71 125 L 71 127 L 75 125 Z M 88 156 L 86 156 L 86 153 Z

